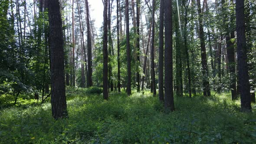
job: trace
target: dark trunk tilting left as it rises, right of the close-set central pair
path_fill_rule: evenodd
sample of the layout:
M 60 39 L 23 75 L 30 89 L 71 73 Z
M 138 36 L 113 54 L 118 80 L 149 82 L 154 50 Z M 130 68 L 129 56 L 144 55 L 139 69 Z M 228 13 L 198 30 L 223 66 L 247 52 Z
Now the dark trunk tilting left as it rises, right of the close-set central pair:
M 200 47 L 201 47 L 201 64 L 202 64 L 202 73 L 203 73 L 203 95 L 210 96 L 210 84 L 209 84 L 209 72 L 207 65 L 204 33 L 203 33 L 203 13 L 201 11 L 200 0 L 197 0 L 197 12 L 199 14 L 199 38 L 200 38 Z

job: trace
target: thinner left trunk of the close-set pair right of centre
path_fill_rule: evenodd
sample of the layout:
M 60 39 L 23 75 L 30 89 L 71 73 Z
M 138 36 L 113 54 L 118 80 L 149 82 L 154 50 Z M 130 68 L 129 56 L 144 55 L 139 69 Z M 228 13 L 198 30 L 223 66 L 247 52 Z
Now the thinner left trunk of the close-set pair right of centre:
M 158 95 L 164 102 L 164 0 L 160 0 Z

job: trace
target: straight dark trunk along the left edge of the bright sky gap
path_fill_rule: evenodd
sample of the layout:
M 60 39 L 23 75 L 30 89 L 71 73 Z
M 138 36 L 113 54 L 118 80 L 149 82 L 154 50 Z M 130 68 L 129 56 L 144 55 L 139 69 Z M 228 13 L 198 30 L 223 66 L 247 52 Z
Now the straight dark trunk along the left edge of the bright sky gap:
M 92 43 L 91 43 L 91 36 L 90 36 L 88 0 L 85 0 L 85 10 L 86 10 L 86 26 L 87 26 L 87 56 L 88 56 L 87 87 L 89 88 L 92 86 Z

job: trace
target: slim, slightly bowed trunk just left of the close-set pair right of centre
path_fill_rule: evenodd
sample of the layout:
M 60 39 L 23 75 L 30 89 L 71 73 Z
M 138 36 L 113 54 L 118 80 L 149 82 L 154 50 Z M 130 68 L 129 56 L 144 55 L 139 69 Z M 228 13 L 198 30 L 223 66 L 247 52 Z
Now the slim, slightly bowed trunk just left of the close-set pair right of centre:
M 152 36 L 151 36 L 151 83 L 153 89 L 153 96 L 157 95 L 156 82 L 155 82 L 155 70 L 154 70 L 154 9 L 155 2 L 152 0 Z

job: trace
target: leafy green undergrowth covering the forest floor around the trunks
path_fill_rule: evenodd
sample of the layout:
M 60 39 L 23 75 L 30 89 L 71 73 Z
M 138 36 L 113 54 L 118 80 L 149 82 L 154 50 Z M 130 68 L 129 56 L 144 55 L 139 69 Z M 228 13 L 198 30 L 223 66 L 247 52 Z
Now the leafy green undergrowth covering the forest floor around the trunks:
M 69 118 L 58 121 L 49 102 L 19 99 L 19 105 L 2 108 L 0 144 L 256 142 L 256 105 L 242 113 L 229 93 L 175 97 L 175 111 L 166 113 L 148 91 L 110 93 L 105 101 L 86 89 L 69 90 Z

